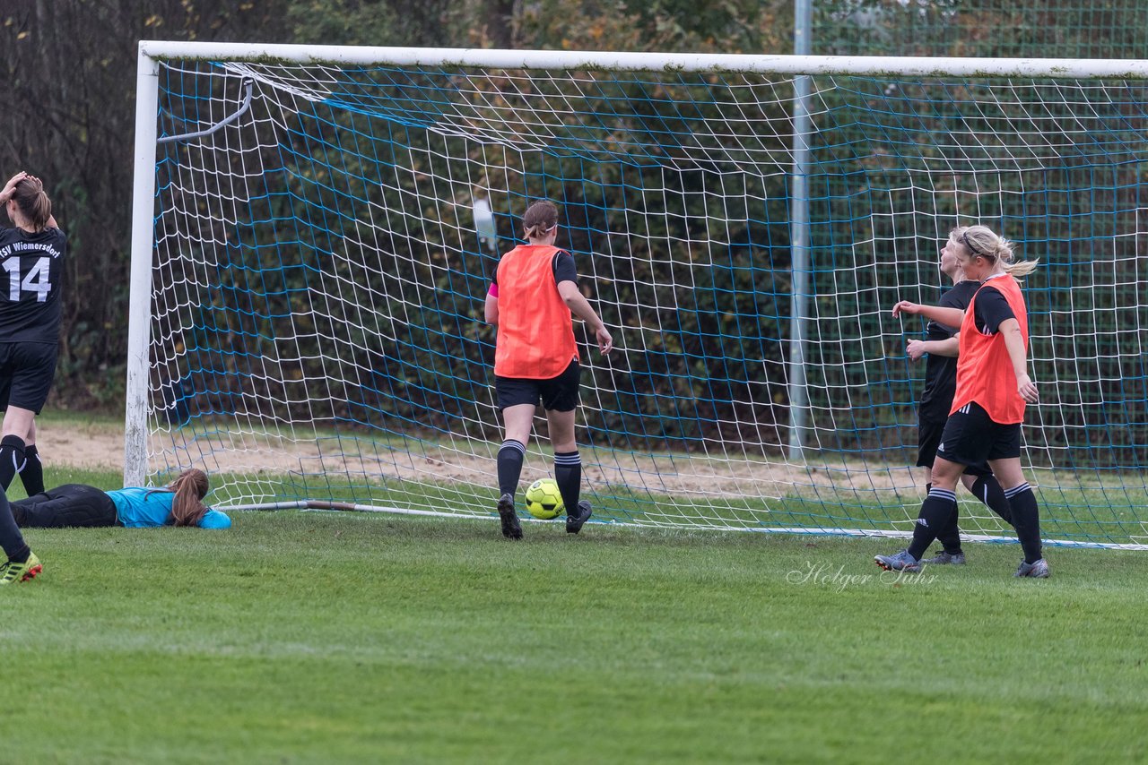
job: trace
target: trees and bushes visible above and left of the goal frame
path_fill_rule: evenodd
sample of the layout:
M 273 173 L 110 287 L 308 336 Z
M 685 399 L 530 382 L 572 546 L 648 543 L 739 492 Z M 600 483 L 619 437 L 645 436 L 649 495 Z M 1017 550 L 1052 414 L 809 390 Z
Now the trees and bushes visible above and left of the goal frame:
M 815 53 L 1148 57 L 1140 0 L 814 0 Z M 792 0 L 51 0 L 0 6 L 0 173 L 69 233 L 49 406 L 123 401 L 140 39 L 788 53 Z

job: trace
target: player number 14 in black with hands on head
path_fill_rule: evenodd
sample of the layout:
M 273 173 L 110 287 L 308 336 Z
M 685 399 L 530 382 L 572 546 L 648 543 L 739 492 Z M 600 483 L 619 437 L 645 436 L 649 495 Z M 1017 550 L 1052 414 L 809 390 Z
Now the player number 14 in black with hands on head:
M 52 390 L 60 344 L 60 276 L 68 237 L 39 178 L 18 172 L 0 190 L 13 226 L 0 226 L 0 489 L 18 473 L 28 494 L 44 491 L 36 415 Z

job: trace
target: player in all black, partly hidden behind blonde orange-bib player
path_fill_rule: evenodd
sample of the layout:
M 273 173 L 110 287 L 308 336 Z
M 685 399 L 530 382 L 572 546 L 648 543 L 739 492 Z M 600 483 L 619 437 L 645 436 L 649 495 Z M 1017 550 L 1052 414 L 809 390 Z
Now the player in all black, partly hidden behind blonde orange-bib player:
M 947 239 L 940 251 L 940 272 L 953 286 L 941 295 L 940 307 L 953 307 L 963 311 L 972 300 L 974 294 L 980 288 L 978 282 L 964 278 L 961 264 L 956 257 L 960 245 Z M 906 352 L 914 361 L 928 357 L 925 361 L 925 385 L 917 405 L 917 467 L 925 468 L 925 493 L 932 487 L 932 467 L 937 458 L 937 447 L 948 419 L 948 411 L 956 392 L 956 356 L 960 339 L 955 326 L 930 321 L 925 327 L 925 339 L 910 339 Z M 1011 523 L 1011 512 L 1004 490 L 993 476 L 985 462 L 969 465 L 961 475 L 961 483 L 974 497 L 988 506 L 994 513 Z M 961 532 L 957 526 L 957 513 L 954 509 L 949 521 L 937 530 L 937 540 L 941 551 L 922 563 L 930 565 L 963 564 L 964 551 L 961 548 Z

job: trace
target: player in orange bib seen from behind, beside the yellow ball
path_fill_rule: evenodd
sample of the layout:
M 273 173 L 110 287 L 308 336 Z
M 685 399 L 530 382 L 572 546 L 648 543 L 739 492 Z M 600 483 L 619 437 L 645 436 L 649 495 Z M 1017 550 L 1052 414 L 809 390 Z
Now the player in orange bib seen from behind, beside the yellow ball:
M 554 450 L 554 481 L 566 506 L 566 531 L 577 533 L 590 518 L 590 504 L 579 499 L 582 460 L 574 440 L 574 409 L 581 367 L 571 314 L 589 325 L 603 353 L 614 346 L 579 291 L 573 256 L 554 247 L 558 208 L 535 202 L 522 216 L 522 227 L 528 243 L 498 261 L 486 304 L 487 323 L 498 327 L 495 392 L 505 428 L 498 450 L 498 517 L 507 539 L 522 538 L 514 494 L 540 400 Z

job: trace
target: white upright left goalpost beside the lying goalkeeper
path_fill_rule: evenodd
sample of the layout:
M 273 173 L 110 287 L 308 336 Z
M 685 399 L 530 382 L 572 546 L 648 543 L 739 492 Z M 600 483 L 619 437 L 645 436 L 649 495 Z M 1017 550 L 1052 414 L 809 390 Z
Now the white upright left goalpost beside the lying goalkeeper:
M 155 244 L 155 157 L 160 67 L 140 46 L 135 72 L 135 172 L 132 184 L 132 267 L 127 312 L 124 485 L 147 475 L 148 345 L 152 331 L 152 250 Z

